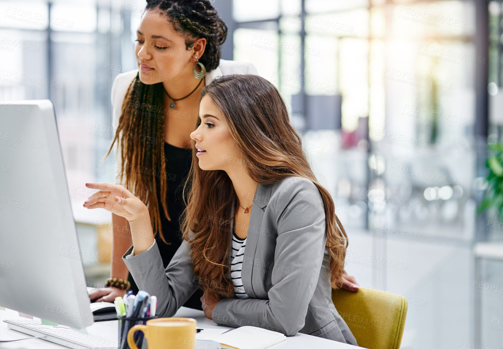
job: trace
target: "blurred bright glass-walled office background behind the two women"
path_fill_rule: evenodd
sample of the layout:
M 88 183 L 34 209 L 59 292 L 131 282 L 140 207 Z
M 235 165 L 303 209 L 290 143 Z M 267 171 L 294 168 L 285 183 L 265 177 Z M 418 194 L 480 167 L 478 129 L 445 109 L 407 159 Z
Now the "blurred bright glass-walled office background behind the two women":
M 109 275 L 110 89 L 145 2 L 0 1 L 0 100 L 50 99 L 89 286 Z M 503 222 L 478 216 L 501 141 L 503 6 L 485 0 L 215 0 L 223 59 L 273 82 L 349 236 L 346 271 L 404 295 L 402 348 L 500 348 Z M 1 111 L 0 111 L 1 112 Z M 101 212 L 100 212 L 101 211 Z

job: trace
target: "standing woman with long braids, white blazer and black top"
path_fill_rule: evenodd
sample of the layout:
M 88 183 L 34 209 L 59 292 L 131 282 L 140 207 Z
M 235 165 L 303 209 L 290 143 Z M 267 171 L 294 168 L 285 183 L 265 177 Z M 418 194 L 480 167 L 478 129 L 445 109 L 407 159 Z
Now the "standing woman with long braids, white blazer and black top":
M 147 207 L 166 267 L 182 243 L 182 186 L 192 163 L 190 134 L 196 128 L 200 95 L 216 76 L 253 73 L 250 63 L 220 59 L 227 26 L 209 0 L 147 0 L 136 32 L 139 69 L 117 75 L 112 85 L 115 184 Z M 156 195 L 153 195 L 156 193 Z M 84 207 L 87 207 L 84 204 Z M 112 214 L 111 277 L 93 301 L 113 302 L 130 286 L 138 291 L 122 255 L 132 245 L 129 222 Z M 132 232 L 141 234 L 141 232 Z M 202 291 L 184 304 L 202 309 Z

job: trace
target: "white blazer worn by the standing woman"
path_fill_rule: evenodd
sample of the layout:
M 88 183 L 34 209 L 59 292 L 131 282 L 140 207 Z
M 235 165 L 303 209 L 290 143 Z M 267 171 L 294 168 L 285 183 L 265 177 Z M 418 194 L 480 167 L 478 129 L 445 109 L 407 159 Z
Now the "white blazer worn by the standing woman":
M 126 97 L 126 92 L 129 84 L 134 79 L 138 69 L 130 70 L 125 73 L 118 74 L 112 84 L 112 128 L 115 135 L 117 126 L 119 126 L 119 118 L 122 111 L 122 103 Z M 206 72 L 205 83 L 208 84 L 217 76 L 228 75 L 228 74 L 257 74 L 257 69 L 255 66 L 248 62 L 238 62 L 233 60 L 220 59 L 219 65 L 212 71 Z M 121 148 L 120 144 L 116 142 L 115 147 L 115 162 L 112 160 L 110 162 L 110 170 L 116 173 L 114 184 L 124 185 L 126 182 L 126 176 L 123 176 L 122 183 L 120 180 L 120 169 L 121 169 Z

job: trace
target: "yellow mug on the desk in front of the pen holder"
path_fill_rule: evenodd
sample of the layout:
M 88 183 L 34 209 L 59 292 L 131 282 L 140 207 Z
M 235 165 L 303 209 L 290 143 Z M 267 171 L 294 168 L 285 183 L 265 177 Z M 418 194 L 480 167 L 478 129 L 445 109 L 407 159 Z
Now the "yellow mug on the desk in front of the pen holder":
M 162 317 L 147 320 L 146 325 L 134 325 L 127 333 L 131 349 L 138 349 L 134 332 L 142 331 L 148 349 L 194 349 L 196 346 L 197 321 L 190 317 Z

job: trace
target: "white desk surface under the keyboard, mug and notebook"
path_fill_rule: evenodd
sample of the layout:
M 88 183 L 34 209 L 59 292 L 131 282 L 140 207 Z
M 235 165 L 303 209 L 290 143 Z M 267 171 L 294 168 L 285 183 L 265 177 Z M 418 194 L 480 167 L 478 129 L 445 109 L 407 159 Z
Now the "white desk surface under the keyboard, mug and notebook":
M 186 307 L 182 307 L 175 314 L 176 317 L 192 317 L 197 320 L 197 326 L 201 328 L 222 328 L 215 324 L 212 320 L 208 319 L 202 310 L 195 310 Z M 0 310 L 0 340 L 8 339 L 18 339 L 31 337 L 28 334 L 24 334 L 13 329 L 7 328 L 7 323 L 4 322 L 5 319 L 19 318 L 18 312 L 13 310 Z M 93 325 L 87 328 L 89 334 L 103 337 L 110 340 L 117 340 L 117 320 L 116 321 L 102 321 L 95 322 Z M 273 349 L 305 349 L 305 348 L 316 348 L 316 349 L 353 349 L 359 348 L 360 346 L 349 345 L 333 340 L 328 340 L 324 338 L 318 338 L 315 336 L 297 333 L 295 336 L 287 337 L 281 343 L 271 346 Z M 35 338 L 22 340 L 18 342 L 11 343 L 0 343 L 1 349 L 62 349 L 65 346 L 49 342 L 44 339 Z

